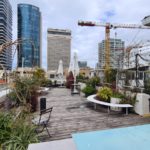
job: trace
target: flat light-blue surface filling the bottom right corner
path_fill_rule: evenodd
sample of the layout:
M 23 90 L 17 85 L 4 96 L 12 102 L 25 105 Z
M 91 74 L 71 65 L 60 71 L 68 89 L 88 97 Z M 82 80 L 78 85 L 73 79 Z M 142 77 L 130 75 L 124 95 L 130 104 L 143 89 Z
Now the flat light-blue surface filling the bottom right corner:
M 72 136 L 77 150 L 150 150 L 150 124 Z

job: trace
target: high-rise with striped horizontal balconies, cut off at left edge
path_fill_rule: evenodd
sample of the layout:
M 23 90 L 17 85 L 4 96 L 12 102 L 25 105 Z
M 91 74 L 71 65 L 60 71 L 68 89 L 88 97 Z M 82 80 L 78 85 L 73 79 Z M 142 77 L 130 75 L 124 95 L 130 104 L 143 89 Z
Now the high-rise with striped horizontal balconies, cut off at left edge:
M 8 0 L 0 0 L 0 45 L 12 40 L 12 7 Z M 0 69 L 11 70 L 12 48 L 0 53 Z

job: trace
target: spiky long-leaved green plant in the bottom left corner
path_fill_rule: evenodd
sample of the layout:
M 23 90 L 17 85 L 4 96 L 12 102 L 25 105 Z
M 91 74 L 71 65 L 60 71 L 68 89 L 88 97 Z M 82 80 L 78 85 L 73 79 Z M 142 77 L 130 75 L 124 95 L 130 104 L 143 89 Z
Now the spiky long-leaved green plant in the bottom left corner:
M 12 113 L 0 113 L 0 149 L 26 150 L 28 144 L 38 142 L 35 126 L 27 119 L 29 114 L 15 117 Z

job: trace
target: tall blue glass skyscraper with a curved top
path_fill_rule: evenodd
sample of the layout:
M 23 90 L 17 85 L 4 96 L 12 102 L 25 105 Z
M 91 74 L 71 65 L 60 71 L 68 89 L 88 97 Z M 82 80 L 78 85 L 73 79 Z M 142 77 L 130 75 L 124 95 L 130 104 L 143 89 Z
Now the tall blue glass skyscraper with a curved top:
M 41 67 L 41 12 L 30 4 L 18 4 L 18 67 Z

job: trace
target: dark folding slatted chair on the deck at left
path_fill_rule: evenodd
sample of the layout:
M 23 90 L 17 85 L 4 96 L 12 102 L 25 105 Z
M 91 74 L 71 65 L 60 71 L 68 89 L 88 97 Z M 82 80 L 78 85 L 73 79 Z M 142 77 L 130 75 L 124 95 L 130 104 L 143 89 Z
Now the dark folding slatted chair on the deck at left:
M 42 133 L 44 129 L 46 129 L 48 136 L 51 137 L 47 127 L 50 121 L 52 110 L 53 110 L 53 107 L 45 109 L 45 110 L 41 110 L 40 116 L 32 120 L 32 123 L 37 126 L 35 130 L 37 134 Z

